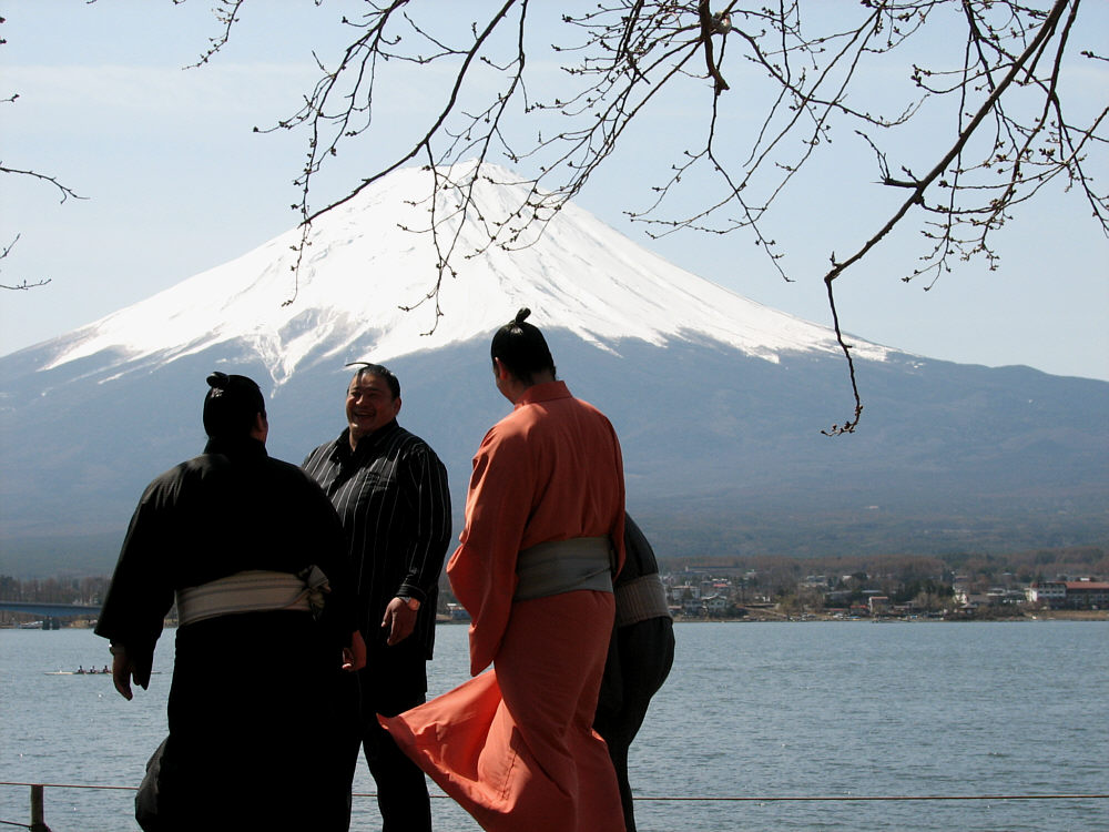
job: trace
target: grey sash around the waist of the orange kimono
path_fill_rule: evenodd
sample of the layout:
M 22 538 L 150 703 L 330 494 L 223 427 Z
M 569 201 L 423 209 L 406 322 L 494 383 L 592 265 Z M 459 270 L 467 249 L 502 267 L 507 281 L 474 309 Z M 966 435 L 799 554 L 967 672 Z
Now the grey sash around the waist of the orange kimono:
M 516 561 L 513 601 L 590 589 L 612 591 L 612 544 L 604 537 L 552 540 L 523 549 Z

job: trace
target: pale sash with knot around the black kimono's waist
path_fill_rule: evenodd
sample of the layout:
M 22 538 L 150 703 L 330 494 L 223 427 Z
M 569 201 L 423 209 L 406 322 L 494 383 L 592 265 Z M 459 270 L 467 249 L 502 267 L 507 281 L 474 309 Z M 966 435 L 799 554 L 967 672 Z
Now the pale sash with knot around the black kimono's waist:
M 317 570 L 318 571 L 318 570 Z M 323 576 L 323 572 L 319 572 Z M 312 589 L 302 578 L 289 572 L 262 569 L 236 572 L 199 587 L 179 589 L 177 623 L 181 627 L 206 618 L 236 612 L 273 610 L 311 611 Z

